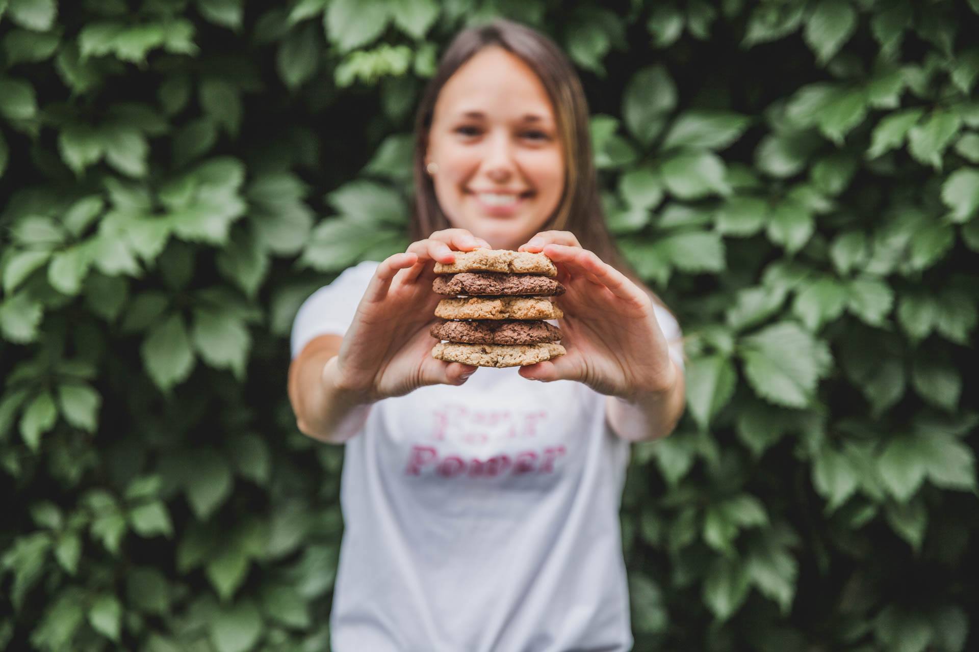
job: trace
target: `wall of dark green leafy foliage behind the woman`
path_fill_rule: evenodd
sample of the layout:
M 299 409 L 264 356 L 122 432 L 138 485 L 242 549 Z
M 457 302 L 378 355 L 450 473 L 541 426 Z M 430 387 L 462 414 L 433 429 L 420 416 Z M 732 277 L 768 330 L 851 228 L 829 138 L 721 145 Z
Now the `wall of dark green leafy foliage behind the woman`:
M 406 244 L 418 91 L 504 15 L 580 66 L 688 339 L 624 497 L 635 649 L 974 649 L 977 12 L 0 0 L 0 647 L 327 649 L 343 450 L 289 328 Z

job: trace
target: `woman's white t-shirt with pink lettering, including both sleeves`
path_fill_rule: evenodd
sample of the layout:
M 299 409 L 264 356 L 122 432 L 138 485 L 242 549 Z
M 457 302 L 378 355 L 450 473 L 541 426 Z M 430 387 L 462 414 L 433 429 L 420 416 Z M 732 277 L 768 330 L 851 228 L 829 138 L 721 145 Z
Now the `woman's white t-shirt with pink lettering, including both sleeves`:
M 295 357 L 344 334 L 375 262 L 303 303 Z M 680 332 L 657 306 L 671 355 Z M 552 322 L 554 324 L 555 322 Z M 629 443 L 580 382 L 480 368 L 375 404 L 346 443 L 335 652 L 629 650 Z

